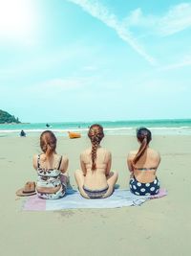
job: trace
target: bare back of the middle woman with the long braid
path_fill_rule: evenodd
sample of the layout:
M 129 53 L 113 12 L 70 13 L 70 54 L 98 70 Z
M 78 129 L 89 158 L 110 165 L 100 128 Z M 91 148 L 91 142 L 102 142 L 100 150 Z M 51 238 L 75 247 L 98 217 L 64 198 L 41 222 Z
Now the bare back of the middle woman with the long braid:
M 83 151 L 80 155 L 81 169 L 84 174 L 84 185 L 89 189 L 98 190 L 107 186 L 107 178 L 112 163 L 111 152 L 101 147 L 96 151 L 96 170 L 92 171 L 92 149 Z

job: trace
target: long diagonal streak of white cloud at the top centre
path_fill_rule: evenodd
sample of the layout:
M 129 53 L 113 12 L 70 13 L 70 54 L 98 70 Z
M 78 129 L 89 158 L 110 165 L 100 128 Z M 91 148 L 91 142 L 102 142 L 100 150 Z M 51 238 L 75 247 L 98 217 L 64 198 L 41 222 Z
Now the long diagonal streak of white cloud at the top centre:
M 155 64 L 156 60 L 148 55 L 143 47 L 138 43 L 137 39 L 129 31 L 124 23 L 118 21 L 117 16 L 110 13 L 108 9 L 96 0 L 68 0 L 80 6 L 85 12 L 90 13 L 98 20 L 102 21 L 108 27 L 114 29 L 117 35 L 126 43 L 128 43 L 141 57 L 145 58 L 151 64 Z

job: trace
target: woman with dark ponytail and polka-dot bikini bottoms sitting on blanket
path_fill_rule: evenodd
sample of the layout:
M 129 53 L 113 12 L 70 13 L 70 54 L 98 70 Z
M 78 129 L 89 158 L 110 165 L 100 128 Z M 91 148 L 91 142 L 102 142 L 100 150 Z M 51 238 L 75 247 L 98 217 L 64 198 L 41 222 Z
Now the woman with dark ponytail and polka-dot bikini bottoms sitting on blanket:
M 159 193 L 159 180 L 156 175 L 159 167 L 159 152 L 149 148 L 152 139 L 148 128 L 138 128 L 138 151 L 130 151 L 127 164 L 130 175 L 130 190 L 138 196 L 156 195 Z

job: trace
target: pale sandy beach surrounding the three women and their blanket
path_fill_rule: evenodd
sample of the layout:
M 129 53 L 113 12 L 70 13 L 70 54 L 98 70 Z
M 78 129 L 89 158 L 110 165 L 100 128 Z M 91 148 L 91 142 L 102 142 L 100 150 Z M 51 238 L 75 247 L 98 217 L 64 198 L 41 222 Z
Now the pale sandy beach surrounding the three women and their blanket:
M 139 207 L 78 209 L 57 212 L 22 211 L 23 198 L 15 191 L 35 180 L 32 155 L 40 152 L 38 137 L 0 138 L 1 211 L 0 255 L 123 256 L 190 255 L 191 157 L 189 136 L 154 136 L 151 147 L 160 152 L 158 176 L 165 198 Z M 128 151 L 138 148 L 133 136 L 106 136 L 102 143 L 112 151 L 112 169 L 119 188 L 126 188 Z M 71 185 L 79 153 L 89 147 L 86 137 L 58 137 L 57 152 L 70 159 Z

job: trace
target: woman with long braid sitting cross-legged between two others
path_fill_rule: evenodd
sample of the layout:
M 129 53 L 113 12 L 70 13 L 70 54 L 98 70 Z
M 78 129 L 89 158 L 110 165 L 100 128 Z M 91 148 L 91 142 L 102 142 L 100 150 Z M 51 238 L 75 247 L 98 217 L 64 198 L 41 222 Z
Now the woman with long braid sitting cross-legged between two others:
M 91 126 L 88 137 L 92 147 L 80 154 L 81 170 L 77 170 L 74 177 L 82 197 L 107 198 L 113 194 L 118 176 L 110 172 L 112 155 L 100 146 L 104 137 L 101 126 Z

